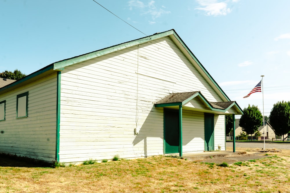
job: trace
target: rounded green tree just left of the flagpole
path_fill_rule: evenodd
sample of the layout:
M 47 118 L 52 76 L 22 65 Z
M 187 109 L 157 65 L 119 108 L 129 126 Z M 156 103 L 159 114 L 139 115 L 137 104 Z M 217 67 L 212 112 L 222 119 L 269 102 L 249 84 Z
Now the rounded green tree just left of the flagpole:
M 247 134 L 251 134 L 251 140 L 253 141 L 253 134 L 262 125 L 263 116 L 258 106 L 250 106 L 249 104 L 248 108 L 244 108 L 243 111 L 244 114 L 240 118 L 240 126 Z

